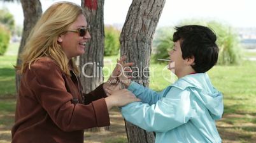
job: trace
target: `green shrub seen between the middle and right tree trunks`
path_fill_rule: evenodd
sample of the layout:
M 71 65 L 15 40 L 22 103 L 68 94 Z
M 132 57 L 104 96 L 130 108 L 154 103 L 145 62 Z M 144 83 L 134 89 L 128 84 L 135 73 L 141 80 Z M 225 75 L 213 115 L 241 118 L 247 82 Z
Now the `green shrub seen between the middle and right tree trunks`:
M 119 53 L 120 49 L 120 31 L 112 26 L 105 27 L 105 46 L 104 56 L 113 56 Z

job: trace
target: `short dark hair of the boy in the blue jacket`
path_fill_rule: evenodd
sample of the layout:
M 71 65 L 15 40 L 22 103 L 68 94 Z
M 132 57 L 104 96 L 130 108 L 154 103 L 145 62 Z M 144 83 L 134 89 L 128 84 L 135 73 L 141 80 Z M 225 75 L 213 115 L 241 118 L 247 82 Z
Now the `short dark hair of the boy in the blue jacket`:
M 210 70 L 218 60 L 217 37 L 213 30 L 201 25 L 185 25 L 175 27 L 173 42 L 180 40 L 182 58 L 192 58 L 192 68 L 197 73 Z

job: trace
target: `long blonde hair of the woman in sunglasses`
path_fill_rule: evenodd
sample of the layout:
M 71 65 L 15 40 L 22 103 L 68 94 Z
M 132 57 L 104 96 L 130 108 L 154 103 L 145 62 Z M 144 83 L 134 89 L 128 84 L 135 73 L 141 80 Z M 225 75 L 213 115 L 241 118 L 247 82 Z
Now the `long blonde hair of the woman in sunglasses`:
M 69 26 L 76 21 L 79 15 L 85 15 L 81 6 L 71 2 L 55 3 L 48 8 L 32 28 L 24 46 L 20 59 L 22 65 L 17 69 L 24 73 L 30 68 L 31 63 L 42 57 L 55 60 L 60 69 L 70 75 L 68 58 L 57 42 L 59 35 L 64 34 Z M 70 61 L 71 68 L 79 73 L 73 59 Z

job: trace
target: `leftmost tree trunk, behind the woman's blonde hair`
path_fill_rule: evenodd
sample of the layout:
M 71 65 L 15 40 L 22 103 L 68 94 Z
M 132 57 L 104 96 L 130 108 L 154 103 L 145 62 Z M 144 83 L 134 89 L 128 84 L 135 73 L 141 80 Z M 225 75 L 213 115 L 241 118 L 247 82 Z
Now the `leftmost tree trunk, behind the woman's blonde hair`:
M 20 42 L 20 47 L 18 49 L 18 58 L 17 58 L 17 66 L 21 64 L 20 61 L 20 53 L 22 53 L 23 48 L 25 46 L 25 42 L 31 29 L 36 25 L 38 19 L 42 14 L 41 3 L 39 0 L 20 0 L 22 4 L 22 9 L 24 13 L 24 24 L 23 24 L 23 32 L 22 32 L 22 40 Z M 20 78 L 21 76 L 16 73 L 16 90 L 20 87 Z

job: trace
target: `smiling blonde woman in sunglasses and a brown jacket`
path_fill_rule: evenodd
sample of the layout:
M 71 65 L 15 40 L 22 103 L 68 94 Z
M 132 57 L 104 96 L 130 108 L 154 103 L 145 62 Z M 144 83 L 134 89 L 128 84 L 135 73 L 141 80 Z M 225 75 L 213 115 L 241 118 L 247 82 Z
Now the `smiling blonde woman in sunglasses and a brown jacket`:
M 85 53 L 88 27 L 83 9 L 69 2 L 53 4 L 36 23 L 18 68 L 12 142 L 83 142 L 83 129 L 110 125 L 113 106 L 139 101 L 126 89 L 106 96 L 106 83 L 82 94 L 72 58 Z

